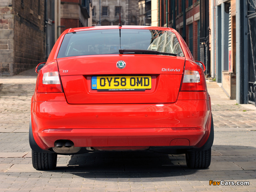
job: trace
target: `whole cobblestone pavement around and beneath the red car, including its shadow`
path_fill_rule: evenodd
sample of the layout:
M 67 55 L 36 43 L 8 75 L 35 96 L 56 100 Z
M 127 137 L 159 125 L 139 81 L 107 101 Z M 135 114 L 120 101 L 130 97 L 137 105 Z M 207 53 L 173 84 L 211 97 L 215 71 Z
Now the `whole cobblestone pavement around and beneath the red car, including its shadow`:
M 207 82 L 215 130 L 208 169 L 186 168 L 183 154 L 95 152 L 58 156 L 54 171 L 32 167 L 28 124 L 35 82 L 33 70 L 0 77 L 1 192 L 256 191 L 256 107 L 236 105 L 215 82 Z M 210 180 L 250 185 L 214 186 Z

